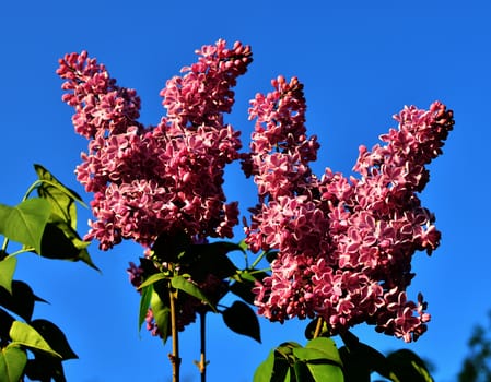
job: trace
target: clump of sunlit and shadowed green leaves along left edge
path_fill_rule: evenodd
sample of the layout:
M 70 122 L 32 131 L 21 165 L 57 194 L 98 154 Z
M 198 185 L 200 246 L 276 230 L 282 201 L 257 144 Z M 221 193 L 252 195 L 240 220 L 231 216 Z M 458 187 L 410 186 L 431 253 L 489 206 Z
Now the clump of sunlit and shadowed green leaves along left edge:
M 9 254 L 9 241 L 48 259 L 83 261 L 95 268 L 86 247 L 77 232 L 75 202 L 80 196 L 66 188 L 43 166 L 35 165 L 39 179 L 16 206 L 0 204 L 0 381 L 65 382 L 62 361 L 78 358 L 63 332 L 52 322 L 36 319 L 37 297 L 23 280 L 13 279 L 16 256 Z M 28 198 L 37 190 L 39 198 Z M 12 313 L 12 314 L 11 314 Z M 17 320 L 22 319 L 23 321 Z

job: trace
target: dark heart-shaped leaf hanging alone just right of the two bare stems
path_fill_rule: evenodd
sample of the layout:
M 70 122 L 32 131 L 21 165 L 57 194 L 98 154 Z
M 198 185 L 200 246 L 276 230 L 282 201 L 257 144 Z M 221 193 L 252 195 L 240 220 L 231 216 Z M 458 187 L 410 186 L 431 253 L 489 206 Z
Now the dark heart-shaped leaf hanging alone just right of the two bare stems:
M 232 307 L 225 309 L 222 314 L 223 321 L 232 331 L 249 336 L 260 344 L 261 336 L 259 320 L 247 303 L 235 301 Z

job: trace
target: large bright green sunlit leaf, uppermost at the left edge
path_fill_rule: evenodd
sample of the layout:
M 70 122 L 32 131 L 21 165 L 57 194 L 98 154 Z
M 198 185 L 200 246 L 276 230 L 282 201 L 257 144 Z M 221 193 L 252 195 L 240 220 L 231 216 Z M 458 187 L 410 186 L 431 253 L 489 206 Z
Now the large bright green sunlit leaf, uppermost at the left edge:
M 51 206 L 39 198 L 23 201 L 14 207 L 0 204 L 0 234 L 40 252 L 40 241 Z

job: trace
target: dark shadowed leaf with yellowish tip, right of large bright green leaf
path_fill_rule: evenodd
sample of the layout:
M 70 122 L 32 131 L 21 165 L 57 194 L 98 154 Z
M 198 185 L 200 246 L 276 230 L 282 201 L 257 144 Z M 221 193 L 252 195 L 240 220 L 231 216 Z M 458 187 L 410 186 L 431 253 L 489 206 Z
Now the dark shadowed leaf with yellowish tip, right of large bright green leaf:
M 47 259 L 83 261 L 98 271 L 86 250 L 90 242 L 83 241 L 67 223 L 48 223 L 43 232 L 40 252 L 38 253 Z

